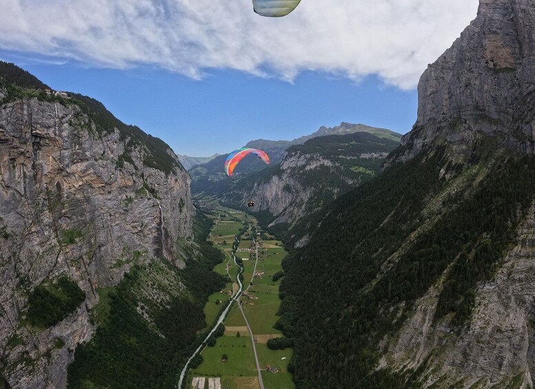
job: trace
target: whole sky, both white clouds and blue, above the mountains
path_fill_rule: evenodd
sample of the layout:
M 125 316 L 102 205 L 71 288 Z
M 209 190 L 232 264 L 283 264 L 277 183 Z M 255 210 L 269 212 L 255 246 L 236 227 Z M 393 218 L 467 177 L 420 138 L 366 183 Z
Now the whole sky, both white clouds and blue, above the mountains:
M 92 96 L 178 154 L 229 152 L 342 121 L 406 133 L 418 78 L 477 0 L 5 0 L 0 59 Z

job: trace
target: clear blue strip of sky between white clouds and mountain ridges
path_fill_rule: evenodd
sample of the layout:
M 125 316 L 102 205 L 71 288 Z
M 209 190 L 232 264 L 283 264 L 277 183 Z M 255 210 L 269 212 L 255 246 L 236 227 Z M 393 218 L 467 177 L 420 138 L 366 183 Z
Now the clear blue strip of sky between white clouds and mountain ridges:
M 101 101 L 120 120 L 165 140 L 178 154 L 208 156 L 249 140 L 293 139 L 342 121 L 402 134 L 415 122 L 417 93 L 370 76 L 360 83 L 304 72 L 293 83 L 233 70 L 201 81 L 158 68 L 113 70 L 23 59 L 0 51 L 56 90 Z

